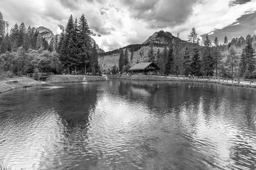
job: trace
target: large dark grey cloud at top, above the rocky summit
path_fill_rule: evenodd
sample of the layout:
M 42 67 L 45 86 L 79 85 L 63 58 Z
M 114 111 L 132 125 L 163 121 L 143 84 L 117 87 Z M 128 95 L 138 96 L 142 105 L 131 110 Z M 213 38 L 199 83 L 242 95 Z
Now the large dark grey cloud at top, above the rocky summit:
M 148 22 L 149 28 L 185 23 L 198 0 L 124 0 L 130 16 Z

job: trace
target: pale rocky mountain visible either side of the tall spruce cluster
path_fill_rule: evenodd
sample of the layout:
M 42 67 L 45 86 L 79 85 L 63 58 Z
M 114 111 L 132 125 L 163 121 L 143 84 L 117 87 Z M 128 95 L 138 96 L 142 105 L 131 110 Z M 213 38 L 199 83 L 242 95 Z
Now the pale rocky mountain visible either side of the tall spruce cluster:
M 59 36 L 59 34 L 54 35 L 51 30 L 49 30 L 48 28 L 45 28 L 43 26 L 39 26 L 38 28 L 33 27 L 32 30 L 34 30 L 34 32 L 37 30 L 42 35 L 43 38 L 46 38 L 48 44 L 50 44 L 50 41 L 52 40 L 52 37 L 54 39 L 55 36 Z M 93 46 L 95 40 L 93 40 L 92 37 L 90 37 L 90 38 L 91 38 L 91 45 Z M 98 53 L 104 53 L 105 52 L 104 50 L 99 48 L 98 44 L 96 44 L 96 48 L 97 48 Z

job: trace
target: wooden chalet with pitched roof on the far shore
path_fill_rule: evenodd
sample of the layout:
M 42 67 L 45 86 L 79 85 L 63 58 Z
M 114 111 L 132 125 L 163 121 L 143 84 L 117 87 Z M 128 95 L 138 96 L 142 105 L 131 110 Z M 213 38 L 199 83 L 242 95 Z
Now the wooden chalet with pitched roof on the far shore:
M 148 73 L 156 70 L 160 70 L 160 68 L 154 62 L 143 62 L 135 64 L 128 71 L 130 73 Z

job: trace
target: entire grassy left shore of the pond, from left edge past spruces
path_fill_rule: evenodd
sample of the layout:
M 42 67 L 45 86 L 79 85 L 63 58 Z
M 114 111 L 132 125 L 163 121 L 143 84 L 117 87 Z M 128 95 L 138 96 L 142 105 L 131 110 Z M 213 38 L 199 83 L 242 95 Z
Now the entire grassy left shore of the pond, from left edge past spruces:
M 16 78 L 5 78 L 4 80 L 12 80 L 15 82 L 2 82 L 0 81 L 0 94 L 14 90 L 16 88 L 27 88 L 27 87 L 33 87 L 38 85 L 43 85 L 47 83 L 67 83 L 67 82 L 82 82 L 84 80 L 84 77 L 86 78 L 87 82 L 92 81 L 106 81 L 105 77 L 99 77 L 99 76 L 85 76 L 85 75 L 58 75 L 55 74 L 52 77 L 49 77 L 46 79 L 46 81 L 37 81 L 32 78 L 27 77 L 16 77 Z

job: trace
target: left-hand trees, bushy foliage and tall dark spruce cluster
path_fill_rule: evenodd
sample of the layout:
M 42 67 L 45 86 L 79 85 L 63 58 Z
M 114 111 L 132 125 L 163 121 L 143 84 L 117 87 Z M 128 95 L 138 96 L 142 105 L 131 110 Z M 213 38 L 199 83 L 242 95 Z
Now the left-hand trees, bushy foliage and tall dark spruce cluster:
M 46 38 L 24 23 L 16 23 L 9 31 L 9 22 L 0 12 L 0 76 L 3 73 L 26 74 L 39 72 L 80 71 L 97 73 L 98 53 L 96 43 L 92 45 L 92 34 L 84 14 L 79 21 L 73 16 L 59 36 L 49 44 Z

